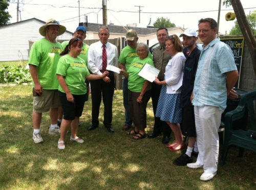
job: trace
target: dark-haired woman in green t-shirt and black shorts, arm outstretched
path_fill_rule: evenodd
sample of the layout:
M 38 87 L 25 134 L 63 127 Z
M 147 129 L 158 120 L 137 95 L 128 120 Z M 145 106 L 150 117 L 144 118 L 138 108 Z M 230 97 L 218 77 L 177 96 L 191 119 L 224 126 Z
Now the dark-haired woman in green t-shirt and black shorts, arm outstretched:
M 72 38 L 65 49 L 60 53 L 62 56 L 57 65 L 57 78 L 59 80 L 59 99 L 63 109 L 63 120 L 60 125 L 60 138 L 58 148 L 65 149 L 65 136 L 71 125 L 70 141 L 83 143 L 77 137 L 79 117 L 82 115 L 83 105 L 86 101 L 86 83 L 84 79 L 96 80 L 109 74 L 105 71 L 102 75 L 89 73 L 86 63 L 79 58 L 82 50 L 82 42 L 79 38 Z

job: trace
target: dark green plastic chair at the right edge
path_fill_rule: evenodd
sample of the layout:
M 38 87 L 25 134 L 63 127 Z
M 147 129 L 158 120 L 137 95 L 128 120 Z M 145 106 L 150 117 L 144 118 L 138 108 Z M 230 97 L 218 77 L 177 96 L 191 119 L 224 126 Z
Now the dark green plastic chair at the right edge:
M 251 138 L 251 133 L 256 132 L 256 89 L 246 93 L 240 100 L 236 110 L 225 115 L 225 138 L 222 151 L 221 165 L 224 165 L 230 145 L 239 146 L 239 156 L 243 156 L 244 149 L 256 152 L 256 139 Z M 232 124 L 249 113 L 250 123 L 247 128 L 241 126 L 240 129 L 233 130 Z

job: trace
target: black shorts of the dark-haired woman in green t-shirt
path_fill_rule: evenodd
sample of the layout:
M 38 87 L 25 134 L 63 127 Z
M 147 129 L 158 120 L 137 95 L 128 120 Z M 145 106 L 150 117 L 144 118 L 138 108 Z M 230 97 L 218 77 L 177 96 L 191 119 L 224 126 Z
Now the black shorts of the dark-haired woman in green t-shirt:
M 81 117 L 84 102 L 86 102 L 86 94 L 73 95 L 74 103 L 68 101 L 66 93 L 58 92 L 60 104 L 63 109 L 63 119 L 74 120 L 75 117 Z

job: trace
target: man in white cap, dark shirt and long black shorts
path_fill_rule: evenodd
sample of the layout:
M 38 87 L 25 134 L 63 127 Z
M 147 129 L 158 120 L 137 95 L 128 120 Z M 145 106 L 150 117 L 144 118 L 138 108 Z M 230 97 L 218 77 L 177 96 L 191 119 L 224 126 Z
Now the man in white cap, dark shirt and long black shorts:
M 198 37 L 195 30 L 187 29 L 183 34 L 180 35 L 180 37 L 183 38 L 184 47 L 188 50 L 184 65 L 184 75 L 180 97 L 180 107 L 182 107 L 183 111 L 182 123 L 180 125 L 182 134 L 188 137 L 188 146 L 186 152 L 174 160 L 174 164 L 178 166 L 185 166 L 192 162 L 192 153 L 198 154 L 197 146 L 195 146 L 197 135 L 194 106 L 190 101 L 190 96 L 194 89 L 194 82 L 201 50 L 199 50 L 196 46 Z

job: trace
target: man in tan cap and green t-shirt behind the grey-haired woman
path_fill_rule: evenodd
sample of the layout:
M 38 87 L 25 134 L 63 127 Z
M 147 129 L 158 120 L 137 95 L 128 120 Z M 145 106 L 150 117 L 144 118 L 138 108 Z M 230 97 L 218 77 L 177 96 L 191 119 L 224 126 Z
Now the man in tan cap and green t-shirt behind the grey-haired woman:
M 121 51 L 120 57 L 119 57 L 119 68 L 128 70 L 129 67 L 131 66 L 134 58 L 139 57 L 136 52 L 136 47 L 137 47 L 137 42 L 138 42 L 138 35 L 137 32 L 133 29 L 128 30 L 126 32 L 126 42 L 127 46 L 124 47 Z M 152 54 L 148 53 L 148 57 L 152 58 Z M 124 78 L 123 79 L 123 106 L 125 109 L 125 122 L 122 127 L 123 130 L 128 130 L 132 124 L 133 120 L 131 118 L 131 115 L 129 113 L 129 106 L 128 106 L 128 79 Z

